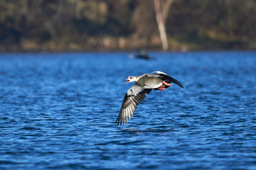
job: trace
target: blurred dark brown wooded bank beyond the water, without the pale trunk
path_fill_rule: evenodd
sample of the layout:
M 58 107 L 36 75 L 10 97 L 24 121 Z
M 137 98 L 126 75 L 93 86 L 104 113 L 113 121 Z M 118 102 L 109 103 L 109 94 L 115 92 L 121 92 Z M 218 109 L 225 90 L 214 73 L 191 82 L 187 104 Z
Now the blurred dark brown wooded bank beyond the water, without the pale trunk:
M 164 10 L 168 0 L 159 0 Z M 256 1 L 173 0 L 168 50 L 255 50 Z M 0 51 L 161 50 L 154 0 L 0 0 Z

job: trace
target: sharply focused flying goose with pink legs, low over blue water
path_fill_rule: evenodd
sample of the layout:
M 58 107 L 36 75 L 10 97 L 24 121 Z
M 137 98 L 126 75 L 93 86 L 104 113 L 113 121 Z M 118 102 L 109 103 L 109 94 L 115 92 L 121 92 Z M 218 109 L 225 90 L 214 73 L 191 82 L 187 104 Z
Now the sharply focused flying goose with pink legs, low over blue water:
M 140 77 L 129 76 L 125 81 L 126 83 L 135 81 L 135 84 L 124 96 L 124 101 L 115 122 L 117 125 L 124 125 L 124 123 L 131 119 L 139 103 L 146 98 L 146 94 L 149 94 L 152 89 L 164 91 L 169 86 L 172 86 L 171 82 L 178 84 L 178 86 L 184 89 L 179 81 L 160 71 L 143 74 Z

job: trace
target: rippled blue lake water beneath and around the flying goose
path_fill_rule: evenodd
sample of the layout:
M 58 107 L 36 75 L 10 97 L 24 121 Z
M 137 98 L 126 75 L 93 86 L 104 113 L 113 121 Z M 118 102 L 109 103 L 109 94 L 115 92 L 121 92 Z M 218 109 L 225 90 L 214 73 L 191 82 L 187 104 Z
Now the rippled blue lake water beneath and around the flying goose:
M 0 54 L 0 169 L 256 169 L 256 52 Z M 117 126 L 128 76 L 151 91 Z

